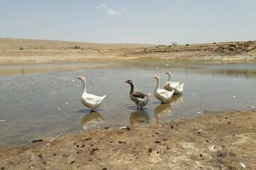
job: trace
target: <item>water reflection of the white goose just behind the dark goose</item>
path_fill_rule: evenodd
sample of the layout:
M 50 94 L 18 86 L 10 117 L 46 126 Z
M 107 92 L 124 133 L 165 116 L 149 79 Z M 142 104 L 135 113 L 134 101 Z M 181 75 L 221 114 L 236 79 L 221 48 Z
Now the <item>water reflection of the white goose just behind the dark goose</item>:
M 159 106 L 156 106 L 156 108 L 154 108 L 154 115 L 157 124 L 159 124 L 159 118 L 173 114 L 174 111 L 171 109 L 170 103 L 160 104 Z

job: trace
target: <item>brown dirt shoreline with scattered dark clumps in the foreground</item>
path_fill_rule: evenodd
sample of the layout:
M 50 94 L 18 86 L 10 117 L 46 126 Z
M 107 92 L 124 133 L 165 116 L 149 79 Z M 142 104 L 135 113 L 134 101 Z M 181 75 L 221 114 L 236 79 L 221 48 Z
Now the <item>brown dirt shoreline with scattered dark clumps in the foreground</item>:
M 1 169 L 256 169 L 256 111 L 1 146 Z

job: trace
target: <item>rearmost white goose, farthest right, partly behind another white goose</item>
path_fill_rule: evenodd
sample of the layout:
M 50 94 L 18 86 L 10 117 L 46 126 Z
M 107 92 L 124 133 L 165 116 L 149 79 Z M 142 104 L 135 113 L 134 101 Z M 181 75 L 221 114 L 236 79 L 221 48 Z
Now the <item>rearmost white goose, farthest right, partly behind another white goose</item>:
M 169 79 L 164 85 L 164 89 L 166 89 L 167 91 L 174 90 L 174 94 L 182 94 L 184 84 L 181 84 L 181 81 L 171 82 L 171 72 L 166 72 L 166 74 L 168 74 Z

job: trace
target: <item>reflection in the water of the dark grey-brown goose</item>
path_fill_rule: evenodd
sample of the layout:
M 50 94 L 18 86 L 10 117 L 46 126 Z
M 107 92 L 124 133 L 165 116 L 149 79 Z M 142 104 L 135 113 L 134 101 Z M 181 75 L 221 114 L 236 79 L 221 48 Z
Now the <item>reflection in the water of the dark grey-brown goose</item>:
M 130 123 L 132 125 L 138 124 L 149 124 L 149 113 L 144 110 L 141 111 L 133 111 L 130 115 Z

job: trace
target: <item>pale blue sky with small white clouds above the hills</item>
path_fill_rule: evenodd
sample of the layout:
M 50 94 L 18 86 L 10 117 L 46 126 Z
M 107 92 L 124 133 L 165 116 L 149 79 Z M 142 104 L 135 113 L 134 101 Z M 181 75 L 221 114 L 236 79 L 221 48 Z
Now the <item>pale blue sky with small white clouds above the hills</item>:
M 0 38 L 156 45 L 256 40 L 256 1 L 1 0 Z

